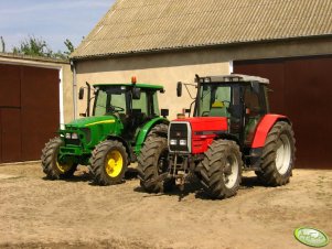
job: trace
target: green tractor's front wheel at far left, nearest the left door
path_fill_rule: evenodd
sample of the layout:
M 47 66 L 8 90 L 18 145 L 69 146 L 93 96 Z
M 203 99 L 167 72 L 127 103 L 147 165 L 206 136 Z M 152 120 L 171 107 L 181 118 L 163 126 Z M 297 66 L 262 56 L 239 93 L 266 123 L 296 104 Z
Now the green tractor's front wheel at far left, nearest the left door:
M 46 178 L 69 178 L 76 171 L 77 164 L 73 162 L 60 162 L 58 151 L 62 144 L 63 141 L 60 138 L 54 138 L 50 140 L 42 150 L 41 161 Z

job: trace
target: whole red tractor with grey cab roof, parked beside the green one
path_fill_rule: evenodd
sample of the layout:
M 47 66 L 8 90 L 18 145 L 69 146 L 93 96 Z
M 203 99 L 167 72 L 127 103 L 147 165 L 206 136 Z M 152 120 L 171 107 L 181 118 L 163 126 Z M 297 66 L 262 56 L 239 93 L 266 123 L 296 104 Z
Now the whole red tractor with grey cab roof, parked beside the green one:
M 269 80 L 247 75 L 199 77 L 191 109 L 173 120 L 168 137 L 148 139 L 138 159 L 141 186 L 165 192 L 195 174 L 212 198 L 234 196 L 242 172 L 255 171 L 266 185 L 289 182 L 294 163 L 290 120 L 269 113 Z M 178 83 L 178 96 L 182 83 Z

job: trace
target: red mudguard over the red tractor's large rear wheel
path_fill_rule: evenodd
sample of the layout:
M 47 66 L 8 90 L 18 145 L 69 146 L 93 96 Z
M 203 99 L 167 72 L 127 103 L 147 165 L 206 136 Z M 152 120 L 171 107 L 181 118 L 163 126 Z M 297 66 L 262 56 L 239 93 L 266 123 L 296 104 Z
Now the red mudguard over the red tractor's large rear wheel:
M 266 115 L 258 123 L 256 133 L 253 141 L 253 149 L 263 148 L 265 145 L 266 138 L 275 126 L 275 123 L 279 120 L 283 120 L 290 122 L 286 116 L 282 115 Z

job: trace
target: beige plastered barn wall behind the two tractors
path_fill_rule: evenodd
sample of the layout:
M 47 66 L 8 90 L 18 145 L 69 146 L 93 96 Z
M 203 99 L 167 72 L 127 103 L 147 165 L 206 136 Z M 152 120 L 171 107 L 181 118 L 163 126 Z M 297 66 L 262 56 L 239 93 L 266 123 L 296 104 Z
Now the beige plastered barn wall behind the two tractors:
M 183 97 L 176 97 L 176 83 L 193 83 L 195 74 L 221 75 L 229 73 L 228 62 L 221 62 L 214 53 L 186 52 L 78 62 L 78 88 L 85 82 L 130 83 L 137 76 L 138 83 L 163 85 L 165 94 L 160 95 L 160 108 L 170 109 L 170 118 L 176 117 L 182 108 L 189 108 L 191 98 L 183 88 Z M 194 87 L 189 87 L 195 94 Z M 85 112 L 86 101 L 78 101 L 78 113 Z

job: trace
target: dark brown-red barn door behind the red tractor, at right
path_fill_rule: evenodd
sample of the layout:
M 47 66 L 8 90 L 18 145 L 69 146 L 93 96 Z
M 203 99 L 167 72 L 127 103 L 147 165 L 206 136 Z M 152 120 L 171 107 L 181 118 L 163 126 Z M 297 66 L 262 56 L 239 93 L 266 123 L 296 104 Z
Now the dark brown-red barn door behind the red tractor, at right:
M 269 78 L 272 112 L 290 117 L 298 167 L 332 169 L 332 56 L 243 61 L 235 73 Z

